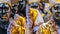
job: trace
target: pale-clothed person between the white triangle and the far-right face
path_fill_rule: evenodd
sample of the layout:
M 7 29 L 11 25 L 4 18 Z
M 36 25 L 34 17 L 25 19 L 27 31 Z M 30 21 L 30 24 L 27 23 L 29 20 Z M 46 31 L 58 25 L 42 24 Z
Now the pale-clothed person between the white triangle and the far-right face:
M 45 8 L 44 8 L 44 12 L 45 12 L 44 22 L 47 22 L 48 20 L 50 20 L 50 17 L 52 16 L 52 12 L 50 11 L 51 7 L 52 6 L 51 6 L 50 3 L 45 3 Z

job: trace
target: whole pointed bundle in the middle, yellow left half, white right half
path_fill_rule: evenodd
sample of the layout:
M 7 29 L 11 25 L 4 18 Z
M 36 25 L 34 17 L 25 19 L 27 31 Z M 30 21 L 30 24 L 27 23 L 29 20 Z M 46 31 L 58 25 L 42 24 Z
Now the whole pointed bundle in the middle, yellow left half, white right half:
M 44 23 L 43 17 L 41 16 L 40 12 L 37 9 L 30 8 L 29 17 L 33 21 L 34 25 Z

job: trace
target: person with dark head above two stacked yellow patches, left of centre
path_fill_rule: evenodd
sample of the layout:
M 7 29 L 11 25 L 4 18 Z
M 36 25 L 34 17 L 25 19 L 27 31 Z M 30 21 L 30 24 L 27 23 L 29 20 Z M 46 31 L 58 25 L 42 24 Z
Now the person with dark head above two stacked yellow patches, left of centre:
M 25 34 L 26 14 L 25 14 L 25 0 L 19 0 L 15 8 L 15 14 L 11 14 L 9 33 L 8 34 Z

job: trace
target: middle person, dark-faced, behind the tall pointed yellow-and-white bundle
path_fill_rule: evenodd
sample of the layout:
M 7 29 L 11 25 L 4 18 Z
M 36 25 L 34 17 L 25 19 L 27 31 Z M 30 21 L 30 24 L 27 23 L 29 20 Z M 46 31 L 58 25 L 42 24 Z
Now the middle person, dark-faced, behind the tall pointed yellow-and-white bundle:
M 35 32 L 38 30 L 38 26 L 41 23 L 44 23 L 43 17 L 41 16 L 39 12 L 39 5 L 37 3 L 32 3 L 29 5 L 28 10 L 28 17 L 29 17 L 29 29 L 31 31 L 31 34 L 35 34 Z

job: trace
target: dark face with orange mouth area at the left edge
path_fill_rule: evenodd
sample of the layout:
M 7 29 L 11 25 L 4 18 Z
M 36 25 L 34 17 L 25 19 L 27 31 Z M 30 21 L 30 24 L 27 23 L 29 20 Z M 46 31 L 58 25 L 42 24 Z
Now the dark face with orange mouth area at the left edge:
M 5 3 L 0 3 L 0 19 L 8 21 L 10 15 L 10 6 Z

